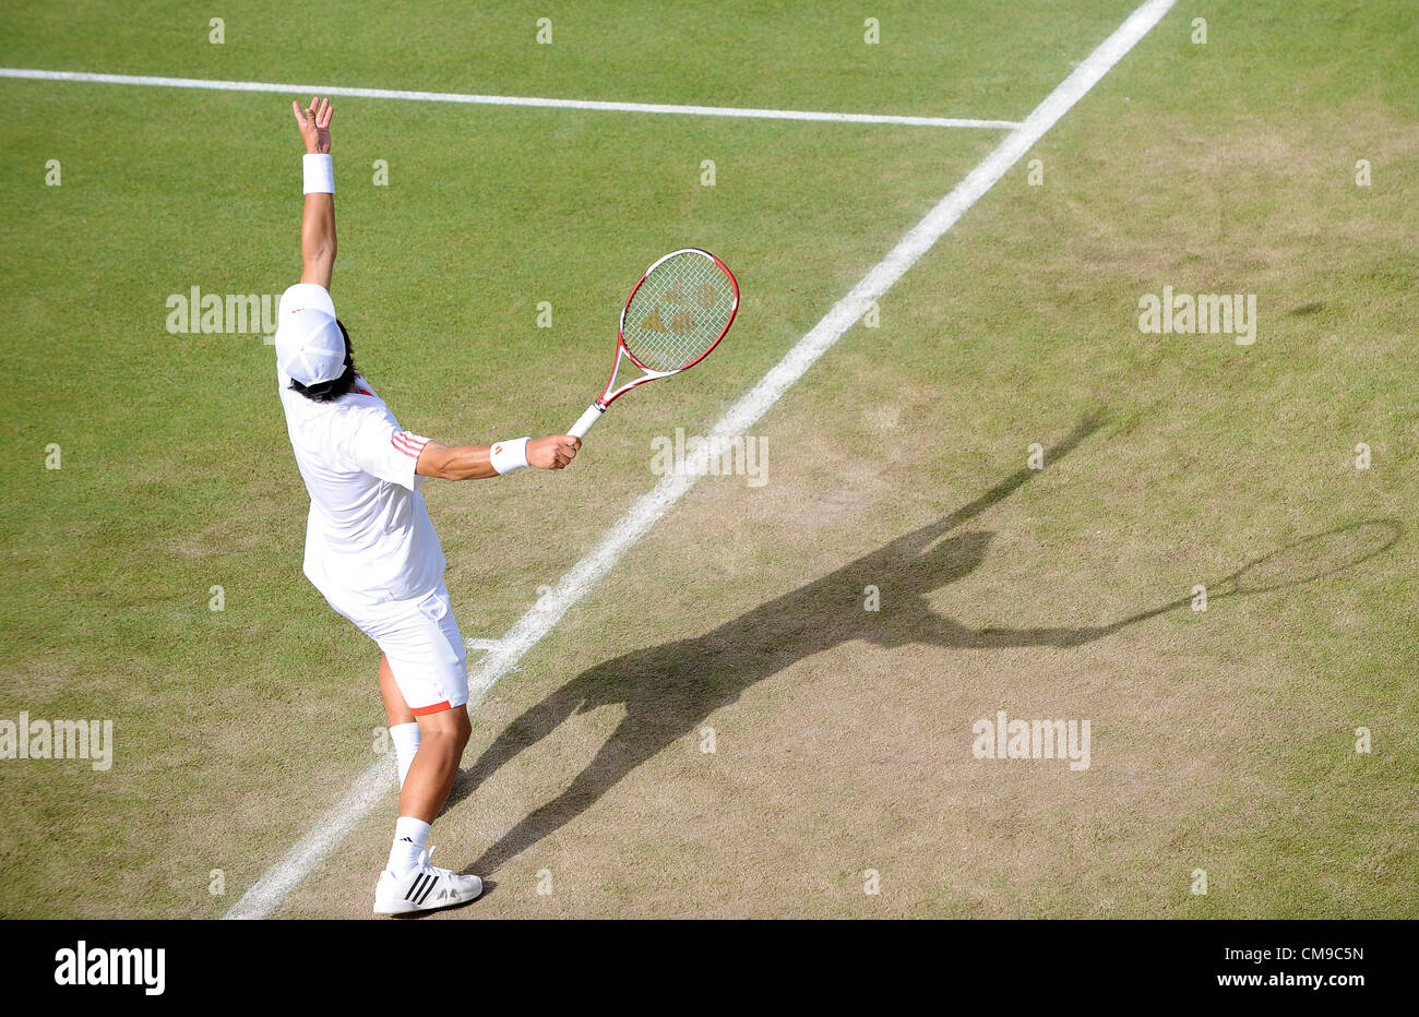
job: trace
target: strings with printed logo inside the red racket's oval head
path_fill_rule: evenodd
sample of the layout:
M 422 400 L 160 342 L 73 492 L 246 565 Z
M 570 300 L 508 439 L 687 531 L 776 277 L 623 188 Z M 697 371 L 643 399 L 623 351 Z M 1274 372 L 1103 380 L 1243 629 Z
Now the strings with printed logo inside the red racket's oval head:
M 700 254 L 663 261 L 626 308 L 622 339 L 650 370 L 678 370 L 711 349 L 734 311 L 734 288 L 719 267 Z

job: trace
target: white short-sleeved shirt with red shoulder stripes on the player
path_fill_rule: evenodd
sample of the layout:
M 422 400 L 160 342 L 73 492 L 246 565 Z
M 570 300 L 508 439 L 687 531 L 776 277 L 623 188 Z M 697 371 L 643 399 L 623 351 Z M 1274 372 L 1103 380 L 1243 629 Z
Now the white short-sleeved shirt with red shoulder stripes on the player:
M 287 313 L 282 296 L 280 318 Z M 277 325 L 280 329 L 280 325 Z M 404 431 L 363 377 L 356 391 L 316 403 L 277 383 L 295 462 L 311 495 L 307 579 L 342 614 L 419 600 L 443 583 L 443 546 L 414 474 L 429 438 Z

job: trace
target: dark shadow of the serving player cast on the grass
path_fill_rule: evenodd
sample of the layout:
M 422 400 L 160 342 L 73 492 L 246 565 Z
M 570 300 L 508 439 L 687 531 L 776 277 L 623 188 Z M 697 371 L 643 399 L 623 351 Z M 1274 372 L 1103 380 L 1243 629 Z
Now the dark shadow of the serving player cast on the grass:
M 1101 423 L 1097 418 L 1081 421 L 1044 454 L 1046 468 Z M 1181 597 L 1094 627 L 972 628 L 937 614 L 927 596 L 971 574 L 985 559 L 993 536 L 986 530 L 955 530 L 1039 472 L 1020 469 L 945 518 L 702 635 L 634 650 L 583 671 L 553 691 L 512 721 L 460 774 L 447 807 L 473 794 L 504 763 L 551 735 L 572 713 L 606 705 L 623 705 L 626 713 L 565 791 L 508 830 L 465 871 L 497 871 L 585 813 L 643 762 L 695 733 L 711 713 L 732 704 L 755 682 L 843 643 L 864 640 L 887 648 L 912 643 L 955 648 L 1077 647 L 1192 603 L 1191 597 Z M 1398 526 L 1389 521 L 1384 525 Z M 1332 533 L 1347 529 L 1352 528 Z M 1379 550 L 1388 549 L 1395 539 L 1398 529 Z M 876 611 L 864 610 L 868 586 L 880 591 Z

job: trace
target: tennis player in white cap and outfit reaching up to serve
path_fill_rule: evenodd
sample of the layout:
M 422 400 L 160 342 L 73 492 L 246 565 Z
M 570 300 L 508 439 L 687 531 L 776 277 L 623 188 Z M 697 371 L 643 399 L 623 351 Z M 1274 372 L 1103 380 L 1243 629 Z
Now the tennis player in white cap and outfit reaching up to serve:
M 403 430 L 355 369 L 335 316 L 335 176 L 331 101 L 292 102 L 305 140 L 301 282 L 281 295 L 277 382 L 295 462 L 311 495 L 305 576 L 379 644 L 379 691 L 399 770 L 399 818 L 375 913 L 446 908 L 482 894 L 475 875 L 429 864 L 429 827 L 468 743 L 468 674 L 444 586 L 444 556 L 419 494 L 430 477 L 562 469 L 580 440 L 566 434 L 492 445 L 441 445 Z

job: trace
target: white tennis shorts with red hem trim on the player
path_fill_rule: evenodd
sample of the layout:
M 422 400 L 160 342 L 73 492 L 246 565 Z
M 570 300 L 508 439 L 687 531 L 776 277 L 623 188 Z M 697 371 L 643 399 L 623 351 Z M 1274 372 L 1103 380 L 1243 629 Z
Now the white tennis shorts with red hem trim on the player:
M 373 607 L 352 608 L 328 594 L 326 600 L 385 651 L 394 684 L 416 716 L 468 702 L 468 651 L 446 584 L 416 600 Z

